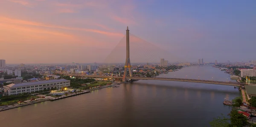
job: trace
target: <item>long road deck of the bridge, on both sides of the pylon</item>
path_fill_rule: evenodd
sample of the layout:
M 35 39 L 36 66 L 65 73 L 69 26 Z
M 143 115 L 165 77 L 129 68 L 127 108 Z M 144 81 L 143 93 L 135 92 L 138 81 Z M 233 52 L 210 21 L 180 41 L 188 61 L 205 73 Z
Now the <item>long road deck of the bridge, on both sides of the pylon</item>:
M 123 79 L 123 77 L 118 76 L 103 76 L 103 75 L 77 75 L 77 74 L 66 74 L 68 76 L 79 76 L 79 77 L 92 77 L 92 78 L 115 78 Z M 128 77 L 127 77 L 128 78 Z M 183 81 L 183 82 L 195 82 L 204 84 L 219 84 L 240 87 L 241 85 L 236 82 L 225 82 L 225 81 L 212 81 L 212 80 L 200 80 L 200 79 L 188 79 L 188 78 L 157 78 L 157 77 L 129 77 L 128 79 L 136 80 L 163 80 L 163 81 Z

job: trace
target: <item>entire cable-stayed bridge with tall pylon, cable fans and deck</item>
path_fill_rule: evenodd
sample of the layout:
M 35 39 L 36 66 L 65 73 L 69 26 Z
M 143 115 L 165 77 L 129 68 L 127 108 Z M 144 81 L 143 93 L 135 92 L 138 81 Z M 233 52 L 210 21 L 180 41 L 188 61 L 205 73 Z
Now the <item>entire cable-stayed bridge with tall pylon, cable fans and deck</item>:
M 132 42 L 130 45 L 130 41 Z M 125 43 L 124 43 L 125 42 Z M 125 52 L 126 51 L 126 52 Z M 241 86 L 239 83 L 236 82 L 228 82 L 228 81 L 213 81 L 213 80 L 200 80 L 200 79 L 189 79 L 189 78 L 160 78 L 157 77 L 159 73 L 157 71 L 164 70 L 175 70 L 180 69 L 178 66 L 175 65 L 160 65 L 158 66 L 161 58 L 169 58 L 174 59 L 175 56 L 170 55 L 167 52 L 162 52 L 163 49 L 154 46 L 147 41 L 138 38 L 135 35 L 132 35 L 129 32 L 128 26 L 126 29 L 126 35 L 122 40 L 118 43 L 115 49 L 112 50 L 110 55 L 105 59 L 104 63 L 124 63 L 124 66 L 117 69 L 119 75 L 113 75 L 113 68 L 110 70 L 110 75 L 83 75 L 83 74 L 64 74 L 68 76 L 79 76 L 79 77 L 92 77 L 92 78 L 113 78 L 113 79 L 121 79 L 123 82 L 128 80 L 163 80 L 163 81 L 183 81 L 183 82 L 195 82 L 195 83 L 205 83 L 205 84 L 221 84 L 221 85 L 230 85 L 230 86 Z M 163 54 L 161 54 L 163 53 Z M 146 63 L 143 67 L 143 74 L 133 72 L 134 66 L 131 62 L 134 63 Z M 161 59 L 162 61 L 162 59 Z M 175 59 L 178 61 L 178 59 Z M 149 63 L 151 65 L 149 65 Z M 168 62 L 167 62 L 168 63 Z M 161 63 L 163 64 L 163 63 Z M 111 67 L 110 67 L 111 68 Z M 140 68 L 142 69 L 142 68 Z M 139 69 L 137 69 L 139 70 Z M 122 72 L 122 75 L 121 75 Z

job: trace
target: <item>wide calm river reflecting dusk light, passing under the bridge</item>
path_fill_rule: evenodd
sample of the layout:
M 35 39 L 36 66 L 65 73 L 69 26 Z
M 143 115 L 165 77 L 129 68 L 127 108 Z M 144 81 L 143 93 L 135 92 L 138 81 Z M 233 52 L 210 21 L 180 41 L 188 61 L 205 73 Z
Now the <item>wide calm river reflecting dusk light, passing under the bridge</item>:
M 211 66 L 185 67 L 160 77 L 230 81 Z M 228 79 L 227 79 L 228 78 Z M 1 127 L 209 127 L 240 95 L 232 86 L 140 80 L 56 101 L 0 112 Z

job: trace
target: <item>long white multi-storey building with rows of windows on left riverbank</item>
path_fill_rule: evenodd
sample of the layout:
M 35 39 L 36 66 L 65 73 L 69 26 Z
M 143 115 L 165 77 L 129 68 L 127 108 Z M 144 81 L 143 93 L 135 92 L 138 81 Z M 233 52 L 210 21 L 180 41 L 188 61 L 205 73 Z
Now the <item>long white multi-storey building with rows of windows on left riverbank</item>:
M 4 95 L 18 95 L 20 93 L 30 93 L 45 89 L 61 89 L 70 86 L 70 81 L 66 79 L 54 79 L 47 81 L 26 82 L 21 84 L 9 84 L 4 87 Z

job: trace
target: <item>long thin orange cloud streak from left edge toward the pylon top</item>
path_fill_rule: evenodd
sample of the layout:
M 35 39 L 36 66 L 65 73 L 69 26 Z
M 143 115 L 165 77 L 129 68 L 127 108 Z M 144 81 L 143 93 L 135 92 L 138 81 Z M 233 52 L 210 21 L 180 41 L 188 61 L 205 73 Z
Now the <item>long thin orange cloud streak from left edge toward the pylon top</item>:
M 97 30 L 97 29 L 84 29 L 84 28 L 76 28 L 76 27 L 49 25 L 49 24 L 26 21 L 26 20 L 11 19 L 11 18 L 7 18 L 7 17 L 0 17 L 0 22 L 1 21 L 7 22 L 7 23 L 21 24 L 21 25 L 41 26 L 41 27 L 48 27 L 48 28 L 55 28 L 55 29 L 77 30 L 77 31 L 84 31 L 84 32 L 94 32 L 94 33 L 99 33 L 102 35 L 110 35 L 110 36 L 119 36 L 119 37 L 123 36 L 123 34 L 116 33 L 116 32 L 105 32 L 105 31 L 101 31 L 101 30 Z

